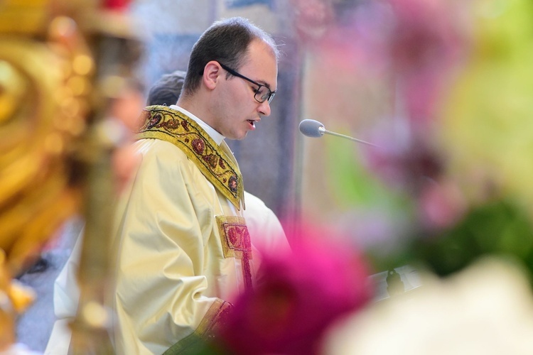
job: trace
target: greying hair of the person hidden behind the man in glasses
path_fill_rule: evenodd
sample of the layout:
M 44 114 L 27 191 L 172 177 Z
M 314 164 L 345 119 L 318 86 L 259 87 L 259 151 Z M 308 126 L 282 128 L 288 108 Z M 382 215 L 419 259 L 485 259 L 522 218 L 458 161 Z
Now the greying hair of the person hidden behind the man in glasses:
M 183 70 L 176 70 L 170 74 L 165 74 L 155 82 L 148 92 L 148 99 L 146 99 L 146 106 L 151 105 L 166 105 L 170 106 L 178 102 L 178 98 L 183 89 L 183 82 L 185 81 L 185 72 Z

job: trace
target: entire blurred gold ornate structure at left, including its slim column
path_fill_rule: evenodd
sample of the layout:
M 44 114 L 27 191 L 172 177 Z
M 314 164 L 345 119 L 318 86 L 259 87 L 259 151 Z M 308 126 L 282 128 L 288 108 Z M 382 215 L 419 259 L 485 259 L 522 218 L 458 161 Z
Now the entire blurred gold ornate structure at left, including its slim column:
M 107 1 L 0 1 L 0 352 L 15 341 L 16 313 L 33 296 L 12 278 L 75 212 L 86 232 L 71 349 L 110 349 L 109 322 L 83 317 L 90 309 L 107 312 L 112 274 L 111 248 L 95 253 L 95 244 L 109 243 L 114 146 L 96 127 L 122 89 L 109 82 L 127 81 L 140 46 L 127 48 L 139 42 L 127 16 L 101 6 Z M 119 49 L 111 51 L 116 57 L 109 48 Z

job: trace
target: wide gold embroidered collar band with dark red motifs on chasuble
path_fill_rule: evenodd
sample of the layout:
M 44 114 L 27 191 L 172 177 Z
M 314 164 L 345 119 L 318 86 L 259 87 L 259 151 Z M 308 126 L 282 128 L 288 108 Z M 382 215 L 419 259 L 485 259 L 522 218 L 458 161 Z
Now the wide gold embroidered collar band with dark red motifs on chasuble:
M 239 167 L 205 131 L 180 111 L 166 106 L 150 106 L 143 110 L 144 124 L 136 138 L 156 138 L 173 143 L 222 195 L 240 209 L 243 195 Z

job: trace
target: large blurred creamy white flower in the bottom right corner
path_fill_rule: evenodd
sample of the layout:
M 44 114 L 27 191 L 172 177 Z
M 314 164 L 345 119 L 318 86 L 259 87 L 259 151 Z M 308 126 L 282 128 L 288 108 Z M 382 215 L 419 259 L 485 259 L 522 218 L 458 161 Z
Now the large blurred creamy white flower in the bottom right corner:
M 485 258 L 336 323 L 323 354 L 532 354 L 533 297 L 515 264 Z

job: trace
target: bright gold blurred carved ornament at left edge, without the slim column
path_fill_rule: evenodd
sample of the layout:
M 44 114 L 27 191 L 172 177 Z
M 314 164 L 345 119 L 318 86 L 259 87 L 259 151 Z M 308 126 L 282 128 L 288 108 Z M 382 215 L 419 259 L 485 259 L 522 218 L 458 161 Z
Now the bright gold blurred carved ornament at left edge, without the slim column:
M 94 63 L 76 36 L 55 18 L 48 43 L 0 40 L 0 247 L 14 275 L 77 209 L 65 158 L 85 128 Z

